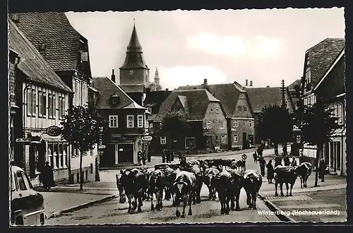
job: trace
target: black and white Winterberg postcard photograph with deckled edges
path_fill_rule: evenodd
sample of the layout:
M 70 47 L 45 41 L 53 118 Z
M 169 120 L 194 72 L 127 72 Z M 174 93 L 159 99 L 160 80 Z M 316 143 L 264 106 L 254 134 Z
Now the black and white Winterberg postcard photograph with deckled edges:
M 345 8 L 8 13 L 9 225 L 346 222 Z

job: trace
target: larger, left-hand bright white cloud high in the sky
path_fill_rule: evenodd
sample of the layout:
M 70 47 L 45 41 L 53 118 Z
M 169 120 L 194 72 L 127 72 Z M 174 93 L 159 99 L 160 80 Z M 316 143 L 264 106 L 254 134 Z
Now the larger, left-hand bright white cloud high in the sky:
M 210 32 L 201 32 L 198 35 L 187 37 L 189 49 L 203 50 L 208 54 L 225 54 L 241 56 L 246 54 L 246 44 L 241 37 L 216 37 Z

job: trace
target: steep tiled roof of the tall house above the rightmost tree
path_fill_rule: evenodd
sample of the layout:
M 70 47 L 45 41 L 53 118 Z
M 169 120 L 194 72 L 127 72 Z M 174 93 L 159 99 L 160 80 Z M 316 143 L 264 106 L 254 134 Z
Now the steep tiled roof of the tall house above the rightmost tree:
M 345 39 L 326 38 L 308 49 L 306 54 L 309 59 L 312 88 L 316 87 L 344 47 Z

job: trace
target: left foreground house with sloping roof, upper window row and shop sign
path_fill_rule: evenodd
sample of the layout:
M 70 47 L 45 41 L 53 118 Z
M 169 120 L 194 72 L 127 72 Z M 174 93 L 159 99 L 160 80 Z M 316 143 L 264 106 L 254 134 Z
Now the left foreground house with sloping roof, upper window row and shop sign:
M 8 24 L 11 59 L 15 51 L 20 56 L 15 66 L 11 61 L 10 69 L 10 77 L 16 75 L 11 78 L 11 105 L 19 107 L 12 119 L 12 137 L 16 143 L 14 163 L 25 169 L 34 186 L 40 183 L 39 174 L 46 161 L 54 169 L 56 183 L 67 181 L 70 168 L 68 143 L 60 136 L 49 136 L 46 130 L 49 126 L 60 126 L 72 90 L 15 23 L 9 20 Z

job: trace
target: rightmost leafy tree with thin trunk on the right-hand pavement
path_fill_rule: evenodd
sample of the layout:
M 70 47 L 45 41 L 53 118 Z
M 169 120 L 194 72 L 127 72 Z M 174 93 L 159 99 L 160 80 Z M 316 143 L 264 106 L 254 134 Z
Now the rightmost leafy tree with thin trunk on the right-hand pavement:
M 316 104 L 303 108 L 301 132 L 303 141 L 309 145 L 316 145 L 316 174 L 315 185 L 318 186 L 318 160 L 323 152 L 323 144 L 330 141 L 330 136 L 341 126 L 337 124 L 337 117 L 333 117 L 333 109 L 325 107 L 317 97 Z

